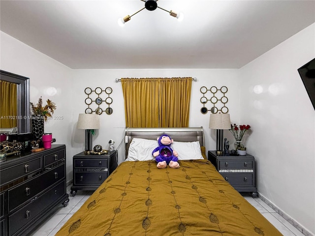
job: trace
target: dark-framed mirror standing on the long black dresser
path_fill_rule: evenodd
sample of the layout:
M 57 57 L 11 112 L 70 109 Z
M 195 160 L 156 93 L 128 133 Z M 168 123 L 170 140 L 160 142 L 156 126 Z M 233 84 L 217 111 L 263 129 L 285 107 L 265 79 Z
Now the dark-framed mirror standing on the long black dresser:
M 0 74 L 1 89 L 6 87 L 4 92 L 1 90 L 0 132 L 15 133 L 16 129 L 17 133 L 31 132 L 30 79 L 3 70 Z M 8 104 L 11 108 L 2 110 Z

